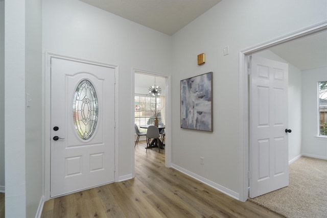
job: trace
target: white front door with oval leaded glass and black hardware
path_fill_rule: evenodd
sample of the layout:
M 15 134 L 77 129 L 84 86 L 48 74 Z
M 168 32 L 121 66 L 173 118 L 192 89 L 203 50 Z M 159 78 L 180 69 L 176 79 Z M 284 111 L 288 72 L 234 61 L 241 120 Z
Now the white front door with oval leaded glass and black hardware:
M 115 69 L 51 58 L 51 197 L 114 181 Z

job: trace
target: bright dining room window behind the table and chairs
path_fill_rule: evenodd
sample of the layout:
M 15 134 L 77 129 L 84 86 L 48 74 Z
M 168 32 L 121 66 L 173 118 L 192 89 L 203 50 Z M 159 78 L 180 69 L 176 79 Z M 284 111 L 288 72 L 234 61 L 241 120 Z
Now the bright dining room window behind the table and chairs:
M 134 105 L 135 105 L 135 109 L 134 109 L 135 124 L 138 127 L 141 125 L 153 125 L 155 113 L 157 113 L 159 123 L 162 122 L 160 98 L 155 99 L 151 95 L 135 94 Z M 139 131 L 146 132 L 147 129 L 139 128 Z

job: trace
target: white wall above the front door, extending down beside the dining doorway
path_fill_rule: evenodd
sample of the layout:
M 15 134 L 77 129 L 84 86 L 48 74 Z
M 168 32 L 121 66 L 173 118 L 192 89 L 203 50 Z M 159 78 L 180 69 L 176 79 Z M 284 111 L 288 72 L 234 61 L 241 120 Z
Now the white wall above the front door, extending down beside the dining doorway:
M 171 38 L 78 0 L 44 0 L 43 52 L 119 65 L 119 177 L 131 175 L 132 69 L 171 74 Z

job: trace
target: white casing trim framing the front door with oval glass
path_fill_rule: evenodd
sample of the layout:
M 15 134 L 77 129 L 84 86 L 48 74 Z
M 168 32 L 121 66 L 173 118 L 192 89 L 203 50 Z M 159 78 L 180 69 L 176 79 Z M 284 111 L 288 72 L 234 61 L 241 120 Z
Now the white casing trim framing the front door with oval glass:
M 50 178 L 50 163 L 51 163 L 51 58 L 59 58 L 59 59 L 64 59 L 64 60 L 69 60 L 69 61 L 76 61 L 76 62 L 81 62 L 81 63 L 87 63 L 87 64 L 94 64 L 98 66 L 104 66 L 104 67 L 110 67 L 114 68 L 114 74 L 115 74 L 115 96 L 114 96 L 114 103 L 115 103 L 115 130 L 114 130 L 114 136 L 115 136 L 115 141 L 114 141 L 114 180 L 115 182 L 118 181 L 118 176 L 119 176 L 119 134 L 118 134 L 118 129 L 119 129 L 119 66 L 114 65 L 114 64 L 108 64 L 108 63 L 102 63 L 102 62 L 97 62 L 97 61 L 92 61 L 92 60 L 86 60 L 82 58 L 76 58 L 76 57 L 71 57 L 71 56 L 65 56 L 65 55 L 60 55 L 60 54 L 55 54 L 51 52 L 45 52 L 45 74 L 44 74 L 44 158 L 43 158 L 43 190 L 44 190 L 44 198 L 45 201 L 48 201 L 51 199 L 50 197 L 50 183 L 51 183 L 51 178 Z M 56 196 L 57 197 L 57 196 Z

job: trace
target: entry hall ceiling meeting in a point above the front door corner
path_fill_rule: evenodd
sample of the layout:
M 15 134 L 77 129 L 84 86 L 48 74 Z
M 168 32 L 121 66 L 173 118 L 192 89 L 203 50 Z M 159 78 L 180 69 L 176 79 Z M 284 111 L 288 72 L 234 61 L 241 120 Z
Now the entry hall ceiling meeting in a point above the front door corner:
M 221 0 L 80 1 L 171 36 Z

